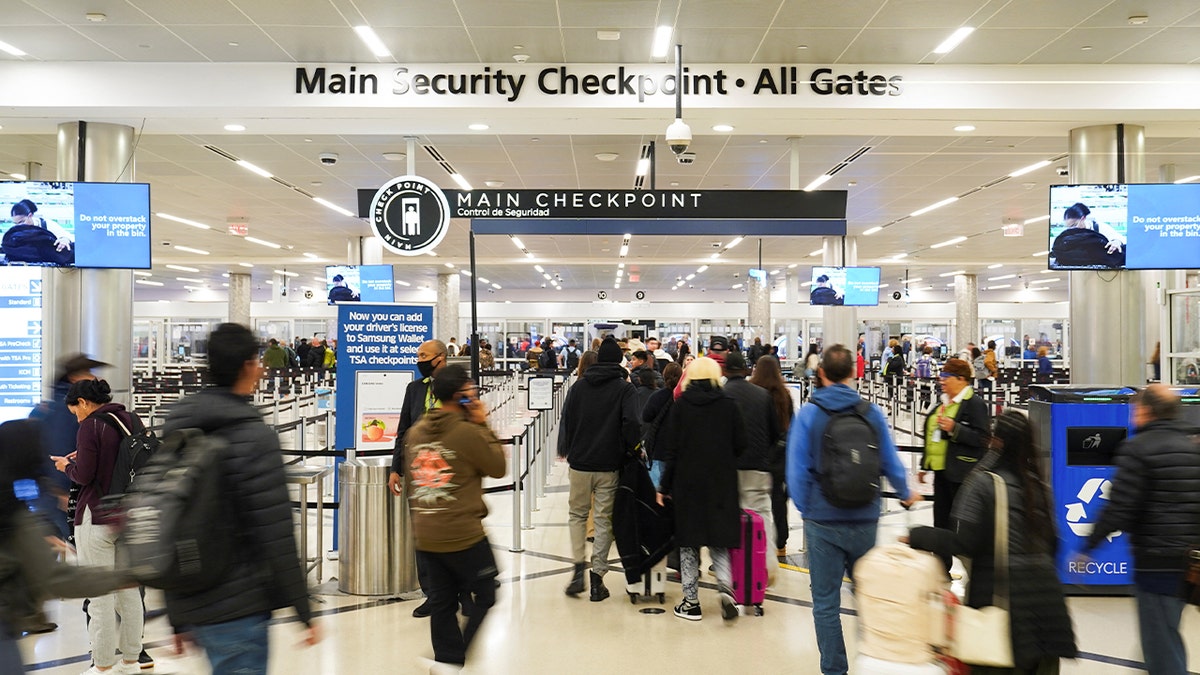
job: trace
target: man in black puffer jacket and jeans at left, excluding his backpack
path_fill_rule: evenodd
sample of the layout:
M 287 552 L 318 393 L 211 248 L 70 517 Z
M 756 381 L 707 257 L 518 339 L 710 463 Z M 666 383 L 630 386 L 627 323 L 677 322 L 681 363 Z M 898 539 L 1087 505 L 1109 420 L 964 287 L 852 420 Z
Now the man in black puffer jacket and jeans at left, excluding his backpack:
M 236 561 L 203 591 L 167 592 L 167 614 L 204 647 L 214 673 L 265 674 L 272 610 L 294 608 L 310 645 L 319 633 L 296 554 L 280 438 L 250 405 L 262 369 L 248 328 L 223 323 L 212 331 L 209 374 L 216 386 L 180 401 L 163 434 L 196 428 L 228 442 L 221 473 L 235 514 Z

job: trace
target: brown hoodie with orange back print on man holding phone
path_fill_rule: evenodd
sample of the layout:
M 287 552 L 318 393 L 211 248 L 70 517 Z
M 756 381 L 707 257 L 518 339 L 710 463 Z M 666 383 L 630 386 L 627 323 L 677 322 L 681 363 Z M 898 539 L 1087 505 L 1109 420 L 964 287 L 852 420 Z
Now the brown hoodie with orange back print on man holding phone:
M 504 448 L 486 424 L 436 408 L 404 435 L 404 495 L 416 550 L 455 552 L 484 539 L 484 477 L 505 473 Z

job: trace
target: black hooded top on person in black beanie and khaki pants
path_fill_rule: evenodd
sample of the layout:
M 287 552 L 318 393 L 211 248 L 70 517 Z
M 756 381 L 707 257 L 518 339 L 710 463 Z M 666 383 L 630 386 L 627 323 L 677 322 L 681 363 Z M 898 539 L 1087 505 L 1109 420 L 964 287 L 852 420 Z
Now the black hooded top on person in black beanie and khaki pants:
M 558 454 L 576 471 L 617 471 L 642 435 L 637 392 L 620 364 L 595 363 L 566 393 Z

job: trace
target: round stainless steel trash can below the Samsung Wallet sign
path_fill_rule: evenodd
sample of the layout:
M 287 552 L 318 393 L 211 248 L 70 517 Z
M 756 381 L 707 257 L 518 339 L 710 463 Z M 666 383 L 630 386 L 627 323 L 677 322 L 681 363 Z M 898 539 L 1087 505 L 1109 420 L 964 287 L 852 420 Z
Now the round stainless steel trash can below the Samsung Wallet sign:
M 388 490 L 391 458 L 343 461 L 338 470 L 337 589 L 355 596 L 414 591 L 416 554 L 408 500 Z

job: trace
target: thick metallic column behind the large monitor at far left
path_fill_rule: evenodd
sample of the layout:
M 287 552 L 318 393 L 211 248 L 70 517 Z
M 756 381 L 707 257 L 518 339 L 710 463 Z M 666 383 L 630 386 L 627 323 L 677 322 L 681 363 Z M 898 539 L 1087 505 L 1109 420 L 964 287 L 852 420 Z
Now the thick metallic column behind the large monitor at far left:
M 66 123 L 58 131 L 58 179 L 133 180 L 133 127 Z M 83 352 L 112 364 L 101 372 L 113 399 L 132 404 L 133 273 L 46 269 L 42 273 L 42 387 L 49 396 L 58 360 Z

